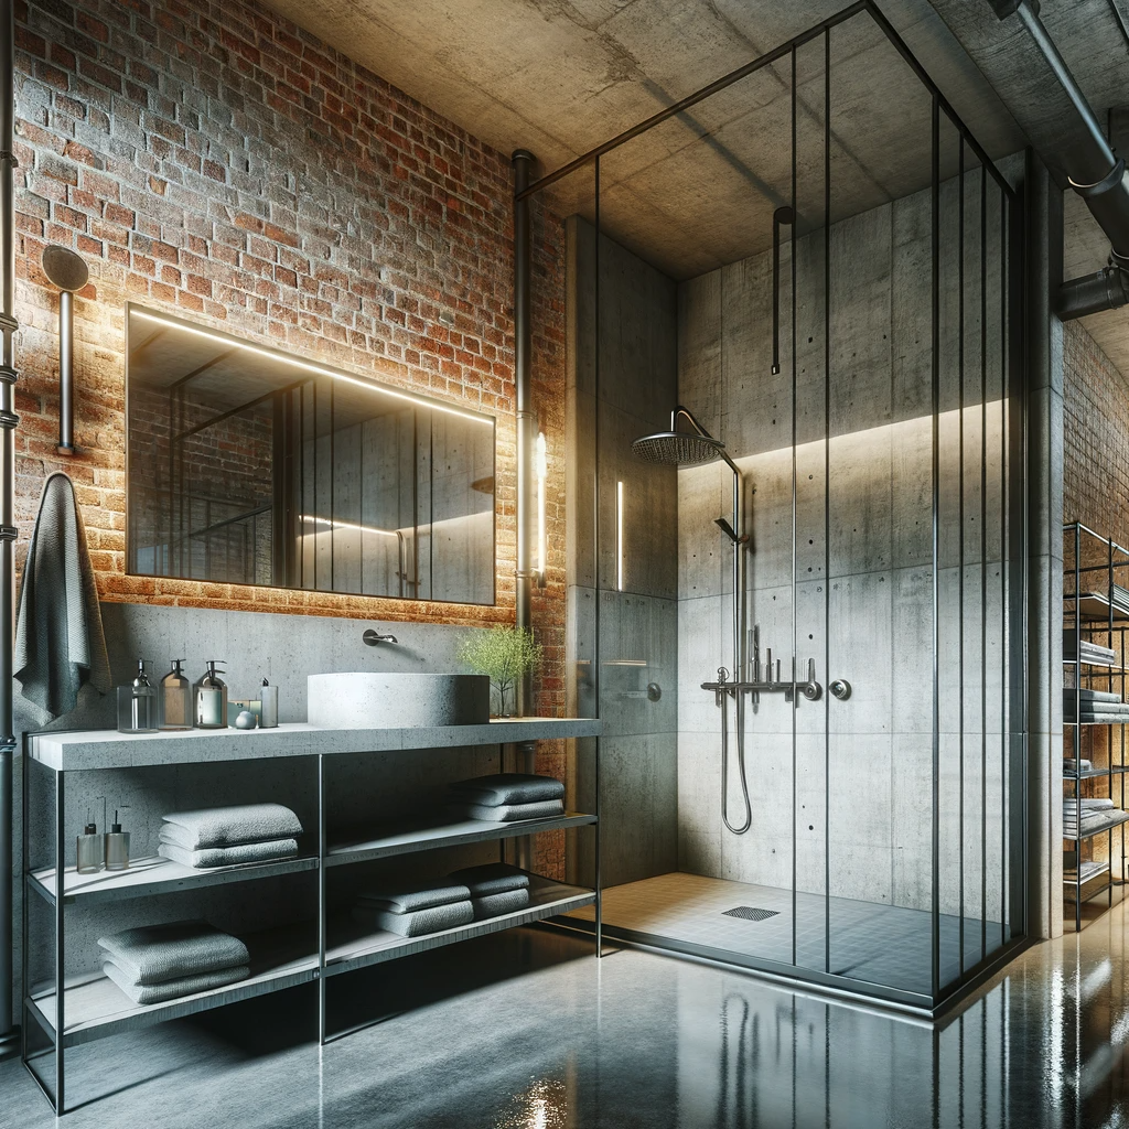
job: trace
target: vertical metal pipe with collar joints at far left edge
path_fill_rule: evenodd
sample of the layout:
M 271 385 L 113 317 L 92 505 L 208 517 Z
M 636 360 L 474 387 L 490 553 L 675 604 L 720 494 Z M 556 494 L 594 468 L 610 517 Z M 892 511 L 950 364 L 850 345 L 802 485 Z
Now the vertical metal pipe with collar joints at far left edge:
M 16 205 L 15 8 L 0 0 L 0 1045 L 12 1030 L 11 991 L 11 799 L 12 760 L 12 588 L 16 474 Z

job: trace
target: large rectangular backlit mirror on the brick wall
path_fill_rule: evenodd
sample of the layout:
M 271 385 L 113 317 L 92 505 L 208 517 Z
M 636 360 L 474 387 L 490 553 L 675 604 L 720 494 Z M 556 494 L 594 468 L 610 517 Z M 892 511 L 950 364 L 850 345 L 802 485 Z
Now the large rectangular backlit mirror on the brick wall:
M 495 421 L 130 306 L 128 569 L 495 602 Z

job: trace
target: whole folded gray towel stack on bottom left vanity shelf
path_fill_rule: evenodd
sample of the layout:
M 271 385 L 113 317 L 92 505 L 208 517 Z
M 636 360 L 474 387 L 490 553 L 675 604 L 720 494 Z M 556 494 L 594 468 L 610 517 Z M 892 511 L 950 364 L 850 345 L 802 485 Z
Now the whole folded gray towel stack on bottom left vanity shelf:
M 247 946 L 207 921 L 125 929 L 99 937 L 102 971 L 134 1004 L 160 1004 L 251 975 Z

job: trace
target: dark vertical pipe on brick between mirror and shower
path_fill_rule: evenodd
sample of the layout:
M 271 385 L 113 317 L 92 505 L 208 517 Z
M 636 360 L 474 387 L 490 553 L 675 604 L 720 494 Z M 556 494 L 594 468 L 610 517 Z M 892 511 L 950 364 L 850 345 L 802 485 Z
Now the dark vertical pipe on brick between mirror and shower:
M 533 154 L 515 149 L 514 191 L 514 379 L 517 401 L 517 627 L 532 630 L 530 597 L 533 588 L 533 440 L 537 415 L 533 410 L 532 295 L 530 250 L 530 201 L 520 199 L 530 186 Z M 518 686 L 517 712 L 533 709 L 533 681 L 527 674 Z

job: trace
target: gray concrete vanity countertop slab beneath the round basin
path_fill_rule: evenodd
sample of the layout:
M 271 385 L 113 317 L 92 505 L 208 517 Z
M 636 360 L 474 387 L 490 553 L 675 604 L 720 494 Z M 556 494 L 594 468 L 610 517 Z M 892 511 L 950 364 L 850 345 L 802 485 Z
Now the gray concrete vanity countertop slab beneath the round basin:
M 30 734 L 27 751 L 33 760 L 56 772 L 71 772 L 598 737 L 602 727 L 601 721 L 590 718 L 524 717 L 501 718 L 487 725 L 405 729 L 329 729 L 305 723 L 280 725 L 275 729 L 183 729 L 146 734 L 76 729 Z

